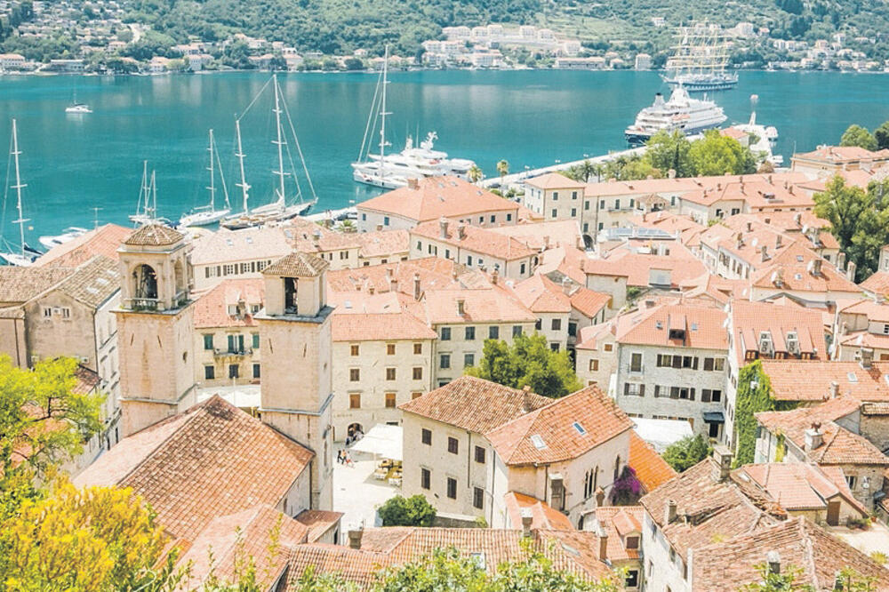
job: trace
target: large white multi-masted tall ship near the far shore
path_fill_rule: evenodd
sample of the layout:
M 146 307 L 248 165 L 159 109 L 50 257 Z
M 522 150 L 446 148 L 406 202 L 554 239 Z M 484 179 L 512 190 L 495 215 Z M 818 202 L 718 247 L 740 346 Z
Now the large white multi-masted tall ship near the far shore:
M 677 45 L 661 77 L 671 88 L 688 92 L 724 91 L 738 84 L 738 75 L 727 72 L 728 37 L 717 25 L 698 23 L 679 28 Z

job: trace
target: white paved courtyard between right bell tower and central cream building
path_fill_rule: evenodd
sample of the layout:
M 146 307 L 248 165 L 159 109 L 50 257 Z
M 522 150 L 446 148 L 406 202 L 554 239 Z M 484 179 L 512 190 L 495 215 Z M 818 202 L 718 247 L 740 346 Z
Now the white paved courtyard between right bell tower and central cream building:
M 342 448 L 342 444 L 336 444 L 334 460 L 336 453 Z M 354 451 L 349 451 L 349 454 L 352 456 L 353 467 L 336 462 L 333 464 L 333 510 L 345 515 L 340 523 L 344 532 L 362 524 L 366 527 L 373 526 L 376 508 L 401 493 L 400 487 L 373 477 L 376 461 L 371 454 Z

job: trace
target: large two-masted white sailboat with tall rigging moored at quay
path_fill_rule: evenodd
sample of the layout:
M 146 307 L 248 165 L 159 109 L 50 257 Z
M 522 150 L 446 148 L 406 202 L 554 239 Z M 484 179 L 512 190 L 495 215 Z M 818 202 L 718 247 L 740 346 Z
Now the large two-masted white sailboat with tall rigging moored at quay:
M 312 180 L 308 176 L 308 169 L 306 168 L 306 160 L 302 156 L 302 149 L 300 148 L 300 140 L 296 138 L 296 132 L 293 128 L 293 122 L 290 116 L 290 112 L 287 110 L 287 104 L 283 100 L 281 100 L 281 87 L 277 83 L 277 75 L 273 75 L 271 78 L 271 84 L 275 92 L 275 107 L 272 109 L 272 112 L 275 114 L 275 124 L 276 124 L 276 139 L 272 140 L 272 144 L 274 144 L 277 148 L 277 170 L 272 171 L 277 177 L 277 187 L 275 188 L 275 201 L 270 204 L 260 205 L 259 207 L 253 208 L 252 210 L 249 208 L 247 204 L 248 194 L 250 185 L 247 183 L 247 180 L 244 176 L 244 149 L 241 147 L 241 119 L 246 115 L 246 111 L 235 120 L 235 132 L 237 139 L 237 158 L 240 163 L 241 170 L 241 182 L 237 184 L 237 187 L 241 188 L 242 197 L 243 197 L 243 210 L 240 213 L 237 213 L 233 216 L 229 216 L 227 219 L 222 220 L 220 222 L 220 226 L 222 228 L 228 228 L 230 230 L 237 228 L 249 228 L 253 226 L 262 226 L 263 224 L 268 224 L 268 222 L 276 222 L 283 220 L 290 220 L 291 218 L 295 218 L 296 216 L 301 216 L 306 213 L 315 205 L 318 201 L 318 198 L 315 194 L 315 187 L 312 185 Z M 268 83 L 266 84 L 268 85 Z M 260 90 L 260 93 L 265 90 L 265 86 Z M 252 103 L 254 100 L 251 102 Z M 249 107 L 247 108 L 249 110 Z M 294 146 L 296 148 L 297 154 L 300 156 L 300 162 L 302 164 L 302 170 L 306 175 L 306 180 L 308 181 L 308 188 L 312 193 L 312 198 L 308 201 L 302 200 L 302 191 L 298 182 L 296 182 L 296 173 L 295 167 L 292 162 L 292 154 L 290 152 L 290 145 L 287 143 L 284 134 L 284 128 L 281 121 L 281 115 L 287 119 L 287 124 L 290 128 L 290 132 L 293 136 Z M 288 161 L 290 163 L 291 172 L 284 171 L 284 150 L 287 152 Z M 285 179 L 289 176 L 292 176 L 294 179 L 294 183 L 297 188 L 297 197 L 299 198 L 299 202 L 295 204 L 287 203 L 287 188 Z

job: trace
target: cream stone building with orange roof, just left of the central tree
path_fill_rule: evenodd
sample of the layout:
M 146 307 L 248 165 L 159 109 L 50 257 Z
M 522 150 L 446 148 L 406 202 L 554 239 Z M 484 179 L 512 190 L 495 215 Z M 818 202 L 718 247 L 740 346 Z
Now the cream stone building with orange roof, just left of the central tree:
M 482 359 L 485 340 L 511 343 L 531 334 L 537 317 L 501 290 L 486 288 L 427 290 L 420 303 L 438 335 L 433 359 L 436 386 L 443 386 Z

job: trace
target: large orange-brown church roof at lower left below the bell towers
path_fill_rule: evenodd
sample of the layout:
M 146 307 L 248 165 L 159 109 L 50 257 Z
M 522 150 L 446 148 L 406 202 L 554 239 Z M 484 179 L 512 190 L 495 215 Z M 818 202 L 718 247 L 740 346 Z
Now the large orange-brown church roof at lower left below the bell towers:
M 124 438 L 74 483 L 132 487 L 174 538 L 195 540 L 214 518 L 275 507 L 313 456 L 213 396 Z

